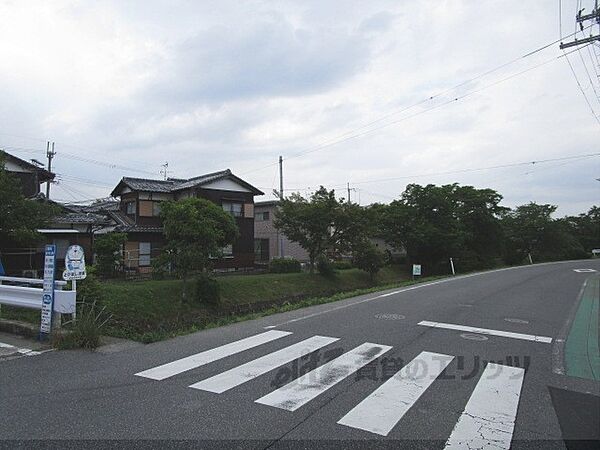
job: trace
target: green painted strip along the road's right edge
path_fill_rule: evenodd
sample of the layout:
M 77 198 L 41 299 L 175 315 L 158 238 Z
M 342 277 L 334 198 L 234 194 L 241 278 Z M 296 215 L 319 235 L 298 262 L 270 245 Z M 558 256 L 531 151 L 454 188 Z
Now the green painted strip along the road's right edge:
M 600 276 L 593 276 L 586 280 L 565 343 L 565 365 L 569 376 L 600 381 L 599 304 Z

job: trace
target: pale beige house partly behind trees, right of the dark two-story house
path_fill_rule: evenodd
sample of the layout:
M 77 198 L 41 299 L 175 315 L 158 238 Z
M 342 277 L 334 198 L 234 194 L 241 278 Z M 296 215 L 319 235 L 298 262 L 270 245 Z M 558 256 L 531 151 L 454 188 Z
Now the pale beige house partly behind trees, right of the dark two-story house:
M 309 260 L 308 253 L 296 242 L 281 235 L 273 221 L 277 200 L 254 203 L 254 255 L 257 263 L 268 263 L 273 258 L 290 257 L 300 262 Z

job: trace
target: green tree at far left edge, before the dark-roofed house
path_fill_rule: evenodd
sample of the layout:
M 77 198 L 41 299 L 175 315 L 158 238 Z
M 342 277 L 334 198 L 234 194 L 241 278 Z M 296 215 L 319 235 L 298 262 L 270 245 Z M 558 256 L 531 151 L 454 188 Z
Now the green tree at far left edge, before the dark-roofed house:
M 0 246 L 36 245 L 44 228 L 58 213 L 54 204 L 30 200 L 21 192 L 19 180 L 6 169 L 0 153 Z

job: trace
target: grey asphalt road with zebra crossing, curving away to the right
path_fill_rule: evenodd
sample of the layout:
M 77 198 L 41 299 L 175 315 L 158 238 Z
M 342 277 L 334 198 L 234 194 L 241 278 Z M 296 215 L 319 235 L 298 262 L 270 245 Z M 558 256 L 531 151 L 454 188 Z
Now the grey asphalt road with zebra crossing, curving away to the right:
M 161 448 L 589 443 L 600 383 L 567 376 L 563 356 L 583 283 L 598 272 L 574 269 L 600 272 L 600 260 L 457 277 L 120 352 L 3 361 L 0 437 Z

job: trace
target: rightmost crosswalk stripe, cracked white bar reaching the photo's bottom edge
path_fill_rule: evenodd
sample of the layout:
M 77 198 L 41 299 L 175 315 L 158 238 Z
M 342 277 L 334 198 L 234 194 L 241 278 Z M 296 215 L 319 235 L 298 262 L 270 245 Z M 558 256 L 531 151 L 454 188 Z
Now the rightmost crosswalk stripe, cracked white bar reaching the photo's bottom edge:
M 525 371 L 489 363 L 446 442 L 446 449 L 509 449 Z

